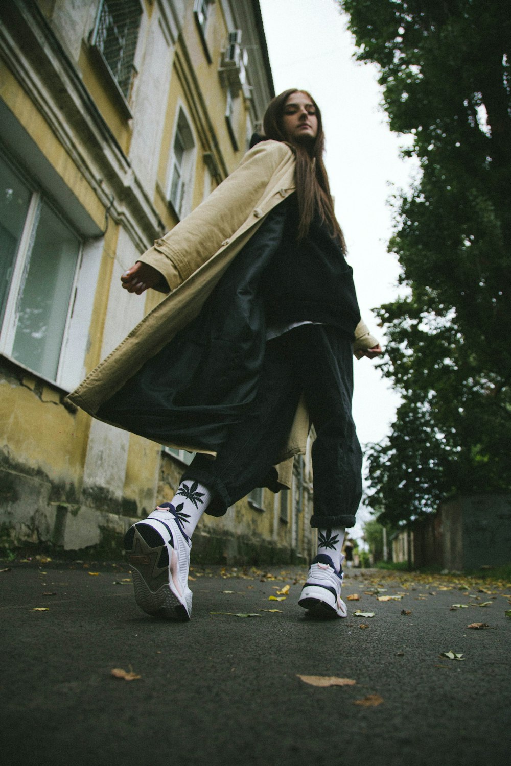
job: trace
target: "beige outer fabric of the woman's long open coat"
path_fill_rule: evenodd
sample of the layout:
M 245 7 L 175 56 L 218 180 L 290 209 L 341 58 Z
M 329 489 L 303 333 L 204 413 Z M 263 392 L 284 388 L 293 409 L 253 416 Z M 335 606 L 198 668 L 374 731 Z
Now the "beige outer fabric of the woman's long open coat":
M 97 417 L 100 405 L 195 319 L 234 256 L 270 210 L 294 191 L 294 165 L 290 146 L 277 141 L 260 142 L 198 208 L 156 240 L 139 260 L 163 274 L 170 293 L 69 394 L 70 401 Z M 377 342 L 360 322 L 353 340 L 355 355 L 360 357 L 363 349 Z M 293 456 L 305 453 L 309 430 L 302 399 L 282 462 L 277 466 L 284 486 L 290 486 Z M 196 450 L 193 444 L 168 446 L 205 451 Z

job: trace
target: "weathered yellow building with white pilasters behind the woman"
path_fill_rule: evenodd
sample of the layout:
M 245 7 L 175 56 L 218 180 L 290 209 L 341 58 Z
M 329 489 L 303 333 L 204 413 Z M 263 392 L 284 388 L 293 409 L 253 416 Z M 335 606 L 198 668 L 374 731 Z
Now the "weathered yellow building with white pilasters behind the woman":
M 120 274 L 237 166 L 274 95 L 259 3 L 11 0 L 0 21 L 2 545 L 116 555 L 190 456 L 65 397 L 159 300 Z M 307 558 L 296 463 L 291 492 L 203 517 L 195 560 Z

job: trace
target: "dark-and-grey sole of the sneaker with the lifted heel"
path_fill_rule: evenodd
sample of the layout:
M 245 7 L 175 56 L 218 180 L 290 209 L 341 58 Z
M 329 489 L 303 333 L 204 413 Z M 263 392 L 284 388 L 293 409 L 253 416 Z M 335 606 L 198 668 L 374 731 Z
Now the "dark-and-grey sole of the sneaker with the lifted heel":
M 146 614 L 188 622 L 190 612 L 175 584 L 177 554 L 152 526 L 140 522 L 124 537 L 126 558 L 132 569 L 135 601 Z M 192 592 L 190 591 L 190 601 Z

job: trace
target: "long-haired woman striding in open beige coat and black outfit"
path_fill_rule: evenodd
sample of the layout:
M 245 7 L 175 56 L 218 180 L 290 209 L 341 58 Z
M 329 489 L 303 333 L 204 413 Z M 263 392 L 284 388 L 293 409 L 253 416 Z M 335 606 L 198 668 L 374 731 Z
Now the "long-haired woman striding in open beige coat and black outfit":
M 299 604 L 346 617 L 341 548 L 362 493 L 352 353 L 381 349 L 360 322 L 310 94 L 276 97 L 264 133 L 123 274 L 131 293 L 171 293 L 70 394 L 95 417 L 197 452 L 172 502 L 126 533 L 136 601 L 148 614 L 190 619 L 190 538 L 201 514 L 221 516 L 255 486 L 289 486 L 313 424 L 318 555 Z

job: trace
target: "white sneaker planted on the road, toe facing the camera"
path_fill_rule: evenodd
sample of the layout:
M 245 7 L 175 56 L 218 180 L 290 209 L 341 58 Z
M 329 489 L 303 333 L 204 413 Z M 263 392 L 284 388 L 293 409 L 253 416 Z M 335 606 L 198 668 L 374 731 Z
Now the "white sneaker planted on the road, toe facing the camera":
M 342 571 L 336 571 L 332 559 L 320 553 L 313 559 L 298 604 L 314 617 L 348 617 L 341 598 Z

